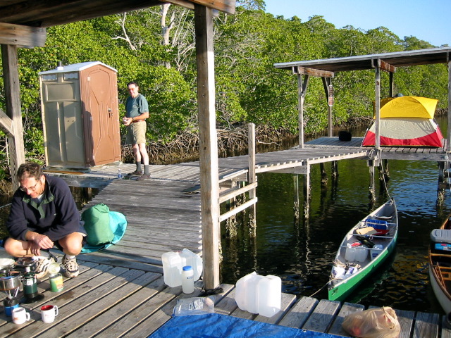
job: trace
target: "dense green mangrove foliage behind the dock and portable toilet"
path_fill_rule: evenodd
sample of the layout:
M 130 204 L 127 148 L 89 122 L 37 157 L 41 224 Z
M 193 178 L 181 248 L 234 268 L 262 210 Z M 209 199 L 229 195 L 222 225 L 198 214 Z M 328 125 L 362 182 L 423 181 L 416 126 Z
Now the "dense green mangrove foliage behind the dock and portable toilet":
M 275 68 L 275 63 L 432 47 L 416 37 L 400 39 L 387 27 L 337 29 L 320 15 L 304 23 L 297 17 L 274 17 L 264 12 L 263 0 L 239 0 L 237 6 L 235 15 L 220 13 L 214 20 L 218 127 L 253 122 L 297 132 L 297 77 Z M 193 11 L 171 5 L 162 27 L 161 9 L 156 6 L 50 27 L 45 47 L 18 49 L 27 158 L 41 161 L 44 156 L 38 73 L 56 68 L 58 61 L 64 65 L 101 61 L 118 70 L 121 115 L 128 96 L 126 84 L 137 81 L 149 101 L 149 139 L 165 143 L 185 130 L 195 130 Z M 444 64 L 397 68 L 395 93 L 433 97 L 444 108 L 447 76 Z M 332 83 L 333 123 L 373 114 L 373 71 L 336 73 Z M 386 73 L 381 74 L 381 84 L 381 95 L 388 96 Z M 0 108 L 4 110 L 3 86 L 0 82 Z M 326 99 L 321 79 L 311 77 L 304 101 L 306 132 L 321 132 L 326 127 Z M 0 139 L 0 178 L 7 168 L 4 140 Z

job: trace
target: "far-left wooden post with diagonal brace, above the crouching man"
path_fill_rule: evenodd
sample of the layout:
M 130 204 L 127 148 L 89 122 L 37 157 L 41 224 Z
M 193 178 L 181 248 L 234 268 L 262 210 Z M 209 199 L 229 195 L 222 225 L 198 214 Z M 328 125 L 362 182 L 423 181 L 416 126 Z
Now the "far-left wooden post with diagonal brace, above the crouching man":
M 25 145 L 23 142 L 22 109 L 20 107 L 20 86 L 17 46 L 1 45 L 4 87 L 6 96 L 6 115 L 11 118 L 11 136 L 8 134 L 8 151 L 11 166 L 13 191 L 19 187 L 17 170 L 25 163 Z

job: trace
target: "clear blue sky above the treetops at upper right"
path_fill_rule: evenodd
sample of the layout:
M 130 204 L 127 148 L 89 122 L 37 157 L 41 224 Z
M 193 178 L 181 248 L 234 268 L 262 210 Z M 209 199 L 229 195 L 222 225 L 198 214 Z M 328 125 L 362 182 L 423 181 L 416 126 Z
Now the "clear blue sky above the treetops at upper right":
M 414 36 L 433 46 L 451 46 L 450 0 L 264 0 L 266 12 L 297 16 L 304 23 L 323 15 L 335 28 L 362 30 L 387 27 L 400 39 Z

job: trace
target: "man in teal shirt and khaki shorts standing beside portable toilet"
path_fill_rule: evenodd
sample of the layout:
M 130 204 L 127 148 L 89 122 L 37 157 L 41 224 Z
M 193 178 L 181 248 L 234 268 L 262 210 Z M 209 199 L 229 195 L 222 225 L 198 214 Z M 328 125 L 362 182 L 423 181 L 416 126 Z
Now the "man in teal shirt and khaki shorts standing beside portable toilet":
M 128 96 L 125 102 L 124 125 L 127 126 L 126 144 L 132 144 L 133 156 L 135 156 L 136 170 L 128 175 L 140 176 L 137 181 L 150 179 L 149 174 L 149 155 L 146 149 L 146 118 L 149 118 L 149 104 L 146 98 L 138 91 L 140 87 L 136 82 L 127 84 Z M 142 173 L 141 161 L 144 163 L 144 173 Z

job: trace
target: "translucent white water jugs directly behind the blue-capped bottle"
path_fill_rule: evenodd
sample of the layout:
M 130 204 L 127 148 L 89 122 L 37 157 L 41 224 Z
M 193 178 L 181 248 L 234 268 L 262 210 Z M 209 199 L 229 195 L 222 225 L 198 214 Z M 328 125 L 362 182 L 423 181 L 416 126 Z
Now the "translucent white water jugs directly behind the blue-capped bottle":
M 182 251 L 169 251 L 161 255 L 163 262 L 164 284 L 169 287 L 182 285 L 182 269 L 190 265 L 194 273 L 194 282 L 202 275 L 202 258 L 196 253 L 183 249 Z

